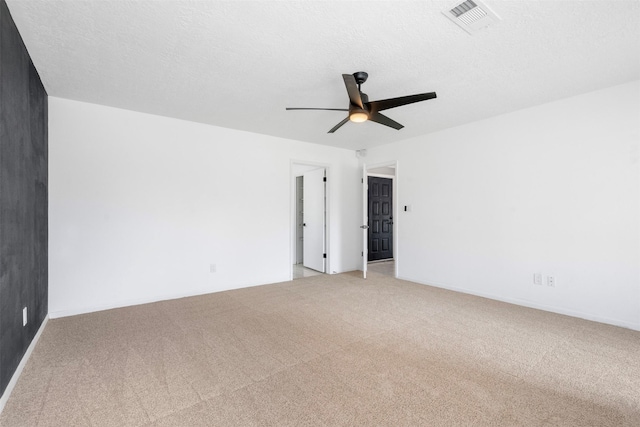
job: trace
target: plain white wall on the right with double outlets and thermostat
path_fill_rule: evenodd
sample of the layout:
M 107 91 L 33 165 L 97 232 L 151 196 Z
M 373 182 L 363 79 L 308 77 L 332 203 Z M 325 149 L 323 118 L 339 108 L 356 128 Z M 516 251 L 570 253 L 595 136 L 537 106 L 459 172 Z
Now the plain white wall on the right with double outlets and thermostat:
M 636 81 L 368 150 L 413 207 L 398 276 L 640 329 L 639 140 Z

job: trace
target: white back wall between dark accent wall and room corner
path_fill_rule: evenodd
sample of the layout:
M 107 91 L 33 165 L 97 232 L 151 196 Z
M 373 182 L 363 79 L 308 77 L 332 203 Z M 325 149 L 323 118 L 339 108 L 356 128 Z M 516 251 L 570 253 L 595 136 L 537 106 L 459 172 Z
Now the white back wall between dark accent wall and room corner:
M 328 271 L 358 268 L 353 151 L 50 97 L 50 317 L 289 280 L 293 160 L 329 165 Z

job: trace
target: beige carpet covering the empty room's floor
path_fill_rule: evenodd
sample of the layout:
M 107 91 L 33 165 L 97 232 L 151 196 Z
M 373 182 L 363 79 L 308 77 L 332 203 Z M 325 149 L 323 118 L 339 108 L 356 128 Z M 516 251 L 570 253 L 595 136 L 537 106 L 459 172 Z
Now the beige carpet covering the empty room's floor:
M 639 426 L 640 332 L 371 273 L 51 320 L 2 426 Z

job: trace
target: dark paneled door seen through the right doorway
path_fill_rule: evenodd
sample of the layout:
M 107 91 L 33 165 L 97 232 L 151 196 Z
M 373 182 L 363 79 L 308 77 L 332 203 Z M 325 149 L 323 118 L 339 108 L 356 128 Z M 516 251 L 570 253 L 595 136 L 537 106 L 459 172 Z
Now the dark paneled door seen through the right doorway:
M 393 180 L 368 177 L 369 261 L 393 258 Z

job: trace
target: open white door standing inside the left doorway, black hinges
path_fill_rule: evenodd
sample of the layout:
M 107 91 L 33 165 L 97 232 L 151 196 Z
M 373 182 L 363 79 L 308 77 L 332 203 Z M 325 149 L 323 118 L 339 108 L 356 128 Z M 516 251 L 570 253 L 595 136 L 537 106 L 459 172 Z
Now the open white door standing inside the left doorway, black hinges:
M 325 271 L 325 180 L 324 169 L 303 175 L 303 261 L 316 271 Z

